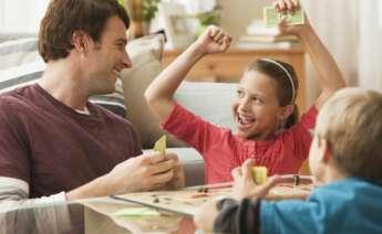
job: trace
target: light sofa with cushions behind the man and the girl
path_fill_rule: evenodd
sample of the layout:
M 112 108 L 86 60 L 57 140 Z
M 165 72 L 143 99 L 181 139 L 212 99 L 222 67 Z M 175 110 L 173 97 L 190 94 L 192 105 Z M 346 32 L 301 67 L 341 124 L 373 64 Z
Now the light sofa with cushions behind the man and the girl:
M 121 73 L 116 89 L 110 95 L 96 95 L 91 102 L 100 104 L 116 115 L 126 117 L 141 136 L 144 150 L 151 150 L 164 134 L 168 136 L 167 150 L 178 155 L 186 173 L 186 185 L 205 183 L 202 156 L 186 143 L 172 137 L 159 127 L 143 94 L 147 85 L 162 71 L 164 39 L 149 35 L 127 43 L 126 50 L 133 66 Z M 0 43 L 0 93 L 37 82 L 45 64 L 37 51 L 37 39 L 20 39 Z M 175 99 L 203 118 L 224 127 L 234 127 L 230 103 L 236 84 L 184 82 Z

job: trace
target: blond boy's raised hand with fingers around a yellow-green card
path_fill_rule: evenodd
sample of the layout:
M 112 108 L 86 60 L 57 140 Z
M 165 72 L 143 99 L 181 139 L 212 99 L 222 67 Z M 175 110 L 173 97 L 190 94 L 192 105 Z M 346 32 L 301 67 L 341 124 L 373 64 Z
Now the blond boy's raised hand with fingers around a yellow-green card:
M 247 159 L 241 168 L 238 167 L 233 170 L 235 199 L 265 198 L 268 191 L 278 182 L 279 177 L 275 176 L 260 185 L 256 184 L 251 173 L 252 167 L 255 167 L 255 161 Z

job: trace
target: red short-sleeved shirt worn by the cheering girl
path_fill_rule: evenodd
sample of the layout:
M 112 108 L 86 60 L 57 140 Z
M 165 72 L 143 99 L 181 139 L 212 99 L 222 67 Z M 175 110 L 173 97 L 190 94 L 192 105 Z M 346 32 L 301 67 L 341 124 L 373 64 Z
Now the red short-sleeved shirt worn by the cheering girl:
M 200 152 L 207 183 L 231 180 L 231 170 L 246 159 L 268 168 L 269 174 L 298 173 L 309 155 L 318 110 L 314 106 L 291 128 L 271 140 L 244 140 L 228 128 L 214 126 L 176 105 L 163 128 Z

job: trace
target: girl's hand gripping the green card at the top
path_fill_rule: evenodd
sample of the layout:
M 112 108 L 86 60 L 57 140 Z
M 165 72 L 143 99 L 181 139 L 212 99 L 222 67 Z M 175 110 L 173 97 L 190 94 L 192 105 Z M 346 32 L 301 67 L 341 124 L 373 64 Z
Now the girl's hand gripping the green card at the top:
M 279 12 L 295 12 L 301 8 L 298 0 L 278 0 L 273 2 L 273 8 Z M 310 22 L 303 12 L 304 23 L 300 25 L 288 25 L 286 19 L 278 24 L 280 34 L 292 34 L 300 36 L 310 29 Z

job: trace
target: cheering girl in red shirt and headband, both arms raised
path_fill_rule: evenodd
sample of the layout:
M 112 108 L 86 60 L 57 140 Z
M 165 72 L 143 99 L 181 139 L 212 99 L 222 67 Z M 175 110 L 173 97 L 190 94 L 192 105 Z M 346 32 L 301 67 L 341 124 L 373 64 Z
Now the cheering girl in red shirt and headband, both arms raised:
M 298 8 L 290 0 L 285 1 L 291 4 L 289 10 Z M 209 26 L 145 92 L 162 126 L 203 155 L 207 183 L 230 181 L 231 170 L 248 158 L 266 166 L 270 174 L 297 173 L 308 156 L 309 130 L 314 127 L 317 109 L 344 86 L 341 72 L 308 20 L 300 26 L 281 22 L 280 30 L 300 38 L 322 86 L 321 96 L 298 124 L 296 73 L 290 65 L 269 59 L 251 64 L 238 85 L 233 103 L 235 134 L 196 117 L 174 102 L 176 88 L 198 60 L 229 47 L 230 36 L 216 26 Z

